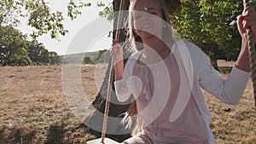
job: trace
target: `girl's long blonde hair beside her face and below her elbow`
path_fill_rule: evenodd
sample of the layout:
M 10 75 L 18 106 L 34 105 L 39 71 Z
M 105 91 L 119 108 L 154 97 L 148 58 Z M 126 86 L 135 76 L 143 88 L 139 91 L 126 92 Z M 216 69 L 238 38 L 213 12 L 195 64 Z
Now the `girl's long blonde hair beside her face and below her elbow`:
M 128 36 L 129 36 L 129 41 L 131 42 L 131 47 L 141 50 L 143 49 L 143 40 L 141 37 L 137 35 L 136 32 L 134 32 L 134 26 L 133 26 L 133 9 L 134 5 L 137 3 L 139 0 L 130 0 L 130 7 L 129 7 L 129 15 L 128 15 Z M 163 20 L 166 21 L 166 24 L 169 24 L 169 26 L 163 27 L 162 30 L 162 41 L 167 44 L 169 48 L 171 48 L 172 43 L 174 43 L 174 38 L 172 37 L 172 26 L 171 26 L 171 20 L 169 19 L 169 14 L 173 13 L 175 8 L 170 7 L 173 3 L 173 0 L 157 0 L 158 3 L 160 4 L 160 8 L 162 10 L 162 15 L 163 15 Z M 172 1 L 170 3 L 170 1 Z M 179 2 L 179 1 L 176 1 Z M 167 5 L 168 8 L 167 9 Z M 173 5 L 172 5 L 173 6 Z M 170 11 L 170 12 L 169 12 Z M 134 125 L 134 122 L 135 125 Z M 132 101 L 127 112 L 125 112 L 125 118 L 123 118 L 123 123 L 127 124 L 126 127 L 131 128 L 134 126 L 134 130 L 131 135 L 136 135 L 137 133 L 143 131 L 143 122 L 142 119 L 137 116 L 137 102 L 136 100 Z

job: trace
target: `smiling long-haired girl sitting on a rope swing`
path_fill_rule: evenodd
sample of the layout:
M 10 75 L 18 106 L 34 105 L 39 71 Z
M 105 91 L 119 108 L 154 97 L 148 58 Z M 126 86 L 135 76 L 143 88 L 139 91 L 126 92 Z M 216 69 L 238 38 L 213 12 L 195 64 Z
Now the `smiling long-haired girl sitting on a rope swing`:
M 238 103 L 250 77 L 246 28 L 251 26 L 256 35 L 255 10 L 245 8 L 238 17 L 241 53 L 227 79 L 195 44 L 173 40 L 164 0 L 131 0 L 129 12 L 130 40 L 141 50 L 125 69 L 121 45 L 114 43 L 111 50 L 116 95 L 119 101 L 133 95 L 127 114 L 137 118 L 137 135 L 123 143 L 214 143 L 201 88 L 224 103 Z

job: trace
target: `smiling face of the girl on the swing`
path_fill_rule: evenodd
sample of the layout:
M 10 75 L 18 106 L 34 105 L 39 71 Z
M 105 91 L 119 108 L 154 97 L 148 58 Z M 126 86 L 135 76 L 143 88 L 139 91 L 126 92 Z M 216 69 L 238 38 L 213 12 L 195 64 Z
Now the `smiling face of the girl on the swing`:
M 161 37 L 166 25 L 163 15 L 157 0 L 137 0 L 132 12 L 134 32 L 143 39 Z

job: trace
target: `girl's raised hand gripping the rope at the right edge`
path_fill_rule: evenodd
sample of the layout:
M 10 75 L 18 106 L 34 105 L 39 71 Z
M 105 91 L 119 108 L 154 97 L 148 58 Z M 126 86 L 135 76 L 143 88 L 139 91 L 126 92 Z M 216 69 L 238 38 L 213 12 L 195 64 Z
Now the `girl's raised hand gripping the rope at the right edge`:
M 237 27 L 242 38 L 247 39 L 246 29 L 251 27 L 253 41 L 256 42 L 256 11 L 253 6 L 245 7 L 242 14 L 237 16 Z

